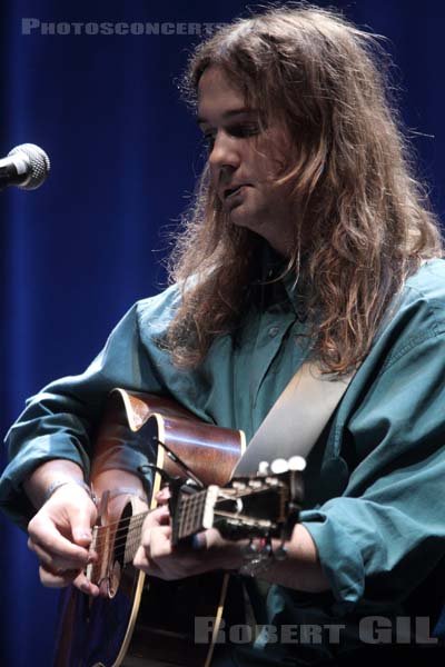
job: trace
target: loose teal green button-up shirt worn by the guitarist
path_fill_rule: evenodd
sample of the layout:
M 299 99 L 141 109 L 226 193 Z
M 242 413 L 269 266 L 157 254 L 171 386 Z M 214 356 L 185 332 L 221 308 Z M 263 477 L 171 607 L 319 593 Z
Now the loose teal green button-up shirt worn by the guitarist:
M 28 401 L 7 438 L 11 462 L 0 481 L 1 507 L 26 526 L 32 508 L 21 482 L 44 460 L 73 460 L 88 475 L 89 434 L 113 387 L 169 395 L 206 421 L 243 429 L 249 440 L 307 356 L 307 325 L 286 289 L 287 298 L 253 308 L 236 336 L 217 339 L 202 366 L 187 372 L 159 346 L 177 288 L 136 303 L 82 375 Z M 263 617 L 269 623 L 367 614 L 434 621 L 445 598 L 438 584 L 445 571 L 445 262 L 424 265 L 395 302 L 308 461 L 301 520 L 332 593 L 271 587 Z M 132 465 L 141 462 L 135 450 Z M 263 639 L 258 650 L 277 655 Z

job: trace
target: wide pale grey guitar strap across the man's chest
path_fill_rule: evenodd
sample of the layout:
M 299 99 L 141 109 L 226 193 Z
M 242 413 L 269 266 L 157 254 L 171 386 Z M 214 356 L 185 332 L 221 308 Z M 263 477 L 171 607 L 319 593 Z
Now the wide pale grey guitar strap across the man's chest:
M 234 476 L 255 475 L 260 461 L 307 458 L 355 376 L 323 375 L 313 362 L 303 364 L 251 438 Z

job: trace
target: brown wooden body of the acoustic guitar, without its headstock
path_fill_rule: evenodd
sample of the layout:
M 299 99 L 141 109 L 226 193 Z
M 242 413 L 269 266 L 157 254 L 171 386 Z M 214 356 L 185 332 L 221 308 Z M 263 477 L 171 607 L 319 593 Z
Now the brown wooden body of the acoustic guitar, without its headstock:
M 154 445 L 157 440 L 178 455 L 206 486 L 226 485 L 245 447 L 241 431 L 205 425 L 172 400 L 116 389 L 98 432 L 92 488 L 97 490 L 96 480 L 111 456 L 113 467 L 127 468 L 130 441 L 151 450 L 159 469 L 181 475 L 164 448 Z M 119 457 L 121 466 L 116 462 Z M 160 475 L 156 474 L 150 508 L 156 507 L 159 488 Z M 137 544 L 126 539 L 134 524 L 141 526 L 144 515 L 132 517 L 131 502 L 122 498 L 119 516 L 111 516 L 107 495 L 101 496 L 98 535 L 107 531 L 107 540 L 98 539 L 95 548 L 101 566 L 92 566 L 90 574 L 92 580 L 102 581 L 107 597 L 90 598 L 73 586 L 63 593 L 55 667 L 209 665 L 211 646 L 194 643 L 194 621 L 206 616 L 218 623 L 228 575 L 211 573 L 179 581 L 146 577 L 131 565 Z

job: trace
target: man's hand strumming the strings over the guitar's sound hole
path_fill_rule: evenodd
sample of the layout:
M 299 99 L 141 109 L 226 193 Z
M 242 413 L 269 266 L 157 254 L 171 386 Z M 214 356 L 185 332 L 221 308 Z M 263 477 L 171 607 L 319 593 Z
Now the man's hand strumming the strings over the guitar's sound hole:
M 73 584 L 82 593 L 99 595 L 83 570 L 96 559 L 89 551 L 97 510 L 86 489 L 67 482 L 55 490 L 28 526 L 28 546 L 37 555 L 43 586 Z

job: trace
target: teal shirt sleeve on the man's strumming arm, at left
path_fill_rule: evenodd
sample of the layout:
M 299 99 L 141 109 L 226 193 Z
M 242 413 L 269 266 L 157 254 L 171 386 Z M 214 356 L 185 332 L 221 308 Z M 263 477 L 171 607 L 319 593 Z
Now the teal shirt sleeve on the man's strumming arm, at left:
M 90 435 L 111 389 L 162 391 L 156 345 L 152 347 L 151 355 L 147 342 L 141 341 L 136 305 L 82 375 L 51 382 L 27 401 L 7 435 L 10 464 L 0 480 L 0 507 L 14 522 L 24 528 L 33 514 L 22 481 L 39 465 L 55 458 L 69 459 L 81 466 L 88 478 Z M 136 469 L 142 462 L 146 458 L 140 451 L 130 450 L 129 467 Z

